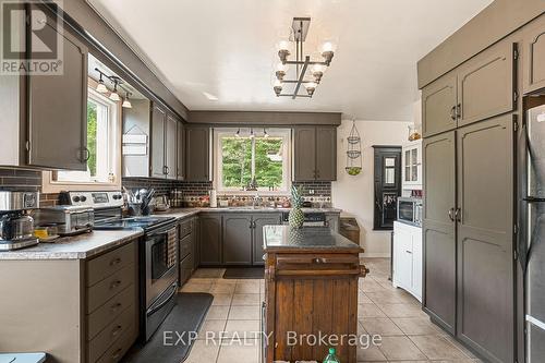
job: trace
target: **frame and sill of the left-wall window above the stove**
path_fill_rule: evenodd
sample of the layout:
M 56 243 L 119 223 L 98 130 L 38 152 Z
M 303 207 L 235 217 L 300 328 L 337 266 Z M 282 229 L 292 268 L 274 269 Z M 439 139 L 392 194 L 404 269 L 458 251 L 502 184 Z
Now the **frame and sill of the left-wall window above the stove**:
M 96 92 L 97 83 L 89 78 L 87 86 L 87 98 L 108 106 L 109 113 L 109 148 L 112 150 L 108 165 L 113 172 L 112 182 L 100 181 L 57 181 L 57 171 L 44 171 L 41 176 L 43 193 L 59 193 L 61 191 L 117 191 L 121 189 L 121 101 L 112 101 L 102 94 Z

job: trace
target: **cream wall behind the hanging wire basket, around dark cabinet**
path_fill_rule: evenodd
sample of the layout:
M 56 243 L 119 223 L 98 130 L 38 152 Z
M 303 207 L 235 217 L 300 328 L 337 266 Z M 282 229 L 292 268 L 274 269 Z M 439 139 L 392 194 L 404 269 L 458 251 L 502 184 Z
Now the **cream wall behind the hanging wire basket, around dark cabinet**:
M 353 216 L 360 225 L 360 244 L 364 256 L 386 257 L 390 254 L 390 232 L 373 231 L 373 145 L 399 145 L 407 142 L 411 122 L 356 121 L 362 136 L 363 170 L 356 177 L 344 171 L 347 164 L 347 136 L 352 121 L 343 120 L 337 133 L 337 181 L 331 185 L 334 206 L 343 210 L 342 216 Z

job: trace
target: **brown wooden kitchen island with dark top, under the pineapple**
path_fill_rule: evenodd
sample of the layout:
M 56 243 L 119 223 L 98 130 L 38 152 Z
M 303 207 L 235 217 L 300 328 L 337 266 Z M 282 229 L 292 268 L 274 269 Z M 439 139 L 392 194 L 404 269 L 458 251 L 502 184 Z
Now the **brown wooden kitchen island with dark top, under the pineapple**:
M 264 361 L 322 361 L 334 347 L 355 363 L 363 249 L 326 227 L 289 226 L 265 226 L 264 249 Z

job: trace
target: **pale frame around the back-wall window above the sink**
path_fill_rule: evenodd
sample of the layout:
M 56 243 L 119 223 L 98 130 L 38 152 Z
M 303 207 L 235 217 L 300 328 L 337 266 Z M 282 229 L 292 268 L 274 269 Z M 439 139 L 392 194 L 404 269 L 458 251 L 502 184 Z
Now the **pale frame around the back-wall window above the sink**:
M 262 131 L 263 128 L 253 128 L 254 132 Z M 257 191 L 242 191 L 239 187 L 226 187 L 222 185 L 223 181 L 223 172 L 222 172 L 222 145 L 221 137 L 222 136 L 234 136 L 237 131 L 240 130 L 243 137 L 247 137 L 245 135 L 250 134 L 251 128 L 221 128 L 214 129 L 213 137 L 214 137 L 214 189 L 219 194 L 235 194 L 235 195 L 286 195 L 290 193 L 291 189 L 291 153 L 292 153 L 292 144 L 291 144 L 291 129 L 287 128 L 266 128 L 267 133 L 272 137 L 282 137 L 282 154 L 283 164 L 282 164 L 282 184 L 286 185 L 286 190 L 278 191 L 268 191 L 268 190 L 257 190 Z M 259 132 L 261 134 L 261 132 Z M 259 136 L 259 134 L 257 136 Z

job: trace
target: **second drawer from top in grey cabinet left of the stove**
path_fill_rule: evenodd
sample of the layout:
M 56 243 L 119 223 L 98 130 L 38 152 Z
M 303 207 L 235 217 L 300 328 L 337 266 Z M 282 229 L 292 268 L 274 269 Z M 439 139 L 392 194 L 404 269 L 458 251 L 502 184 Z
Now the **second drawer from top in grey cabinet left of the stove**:
M 133 264 L 123 267 L 87 290 L 87 314 L 104 305 L 130 285 L 135 285 L 134 266 Z

